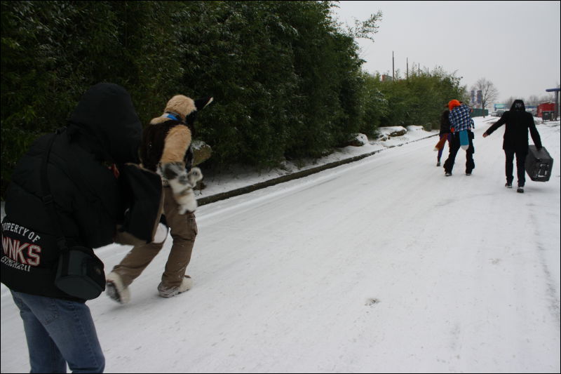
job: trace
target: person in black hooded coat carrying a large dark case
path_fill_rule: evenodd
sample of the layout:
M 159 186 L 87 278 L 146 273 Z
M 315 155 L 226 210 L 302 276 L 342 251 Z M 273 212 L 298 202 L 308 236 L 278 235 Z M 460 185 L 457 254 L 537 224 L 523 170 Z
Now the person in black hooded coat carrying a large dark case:
M 514 100 L 511 110 L 504 112 L 499 121 L 487 128 L 483 133 L 483 138 L 491 135 L 497 128 L 506 125 L 504 131 L 503 149 L 506 155 L 505 172 L 506 172 L 506 185 L 505 187 L 513 187 L 513 161 L 516 155 L 516 171 L 518 173 L 518 189 L 517 192 L 524 192 L 524 185 L 526 182 L 525 177 L 525 162 L 528 154 L 528 130 L 534 140 L 534 145 L 537 149 L 541 149 L 541 138 L 534 117 L 532 114 L 526 112 L 524 102 L 522 100 Z

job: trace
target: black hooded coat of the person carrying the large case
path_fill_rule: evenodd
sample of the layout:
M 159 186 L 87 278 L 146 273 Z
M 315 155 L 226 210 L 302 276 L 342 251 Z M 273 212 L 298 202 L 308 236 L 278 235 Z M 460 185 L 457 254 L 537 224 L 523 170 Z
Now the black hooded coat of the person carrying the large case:
M 528 130 L 534 140 L 534 145 L 541 148 L 541 138 L 534 117 L 526 112 L 524 102 L 515 100 L 511 106 L 511 110 L 503 113 L 499 121 L 496 121 L 491 127 L 485 131 L 487 135 L 491 135 L 497 128 L 506 125 L 504 131 L 503 149 L 527 150 L 528 149 Z

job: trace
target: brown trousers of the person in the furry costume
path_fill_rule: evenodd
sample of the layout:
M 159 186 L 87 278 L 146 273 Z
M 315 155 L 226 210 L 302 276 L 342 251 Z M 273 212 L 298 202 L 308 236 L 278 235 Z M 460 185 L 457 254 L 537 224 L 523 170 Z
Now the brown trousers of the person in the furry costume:
M 198 229 L 194 213 L 187 212 L 180 215 L 177 212 L 178 206 L 173 198 L 172 189 L 163 187 L 163 193 L 163 214 L 170 227 L 173 245 L 168 256 L 168 262 L 165 263 L 162 283 L 165 287 L 175 287 L 181 284 L 189 260 L 191 260 Z M 113 271 L 121 276 L 123 286 L 128 287 L 130 283 L 133 283 L 137 276 L 154 260 L 162 247 L 163 243 L 134 246 L 121 263 L 113 268 Z

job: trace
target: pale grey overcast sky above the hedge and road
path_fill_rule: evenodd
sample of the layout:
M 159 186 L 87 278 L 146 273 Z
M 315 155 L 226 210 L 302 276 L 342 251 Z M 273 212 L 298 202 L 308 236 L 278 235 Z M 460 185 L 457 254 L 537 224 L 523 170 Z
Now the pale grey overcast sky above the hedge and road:
M 374 42 L 358 39 L 367 72 L 456 72 L 468 90 L 485 78 L 511 96 L 547 95 L 560 79 L 560 1 L 340 1 L 340 22 L 381 11 Z

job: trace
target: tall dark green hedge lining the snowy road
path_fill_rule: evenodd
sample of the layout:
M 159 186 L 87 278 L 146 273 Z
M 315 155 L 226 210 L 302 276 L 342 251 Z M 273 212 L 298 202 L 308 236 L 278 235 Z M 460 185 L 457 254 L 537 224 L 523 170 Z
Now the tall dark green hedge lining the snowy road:
M 143 123 L 172 95 L 212 95 L 196 132 L 214 151 L 209 168 L 272 167 L 321 156 L 380 125 L 438 121 L 444 101 L 461 91 L 457 79 L 438 72 L 386 84 L 365 74 L 333 6 L 1 1 L 2 196 L 30 143 L 64 126 L 100 81 L 124 86 Z

